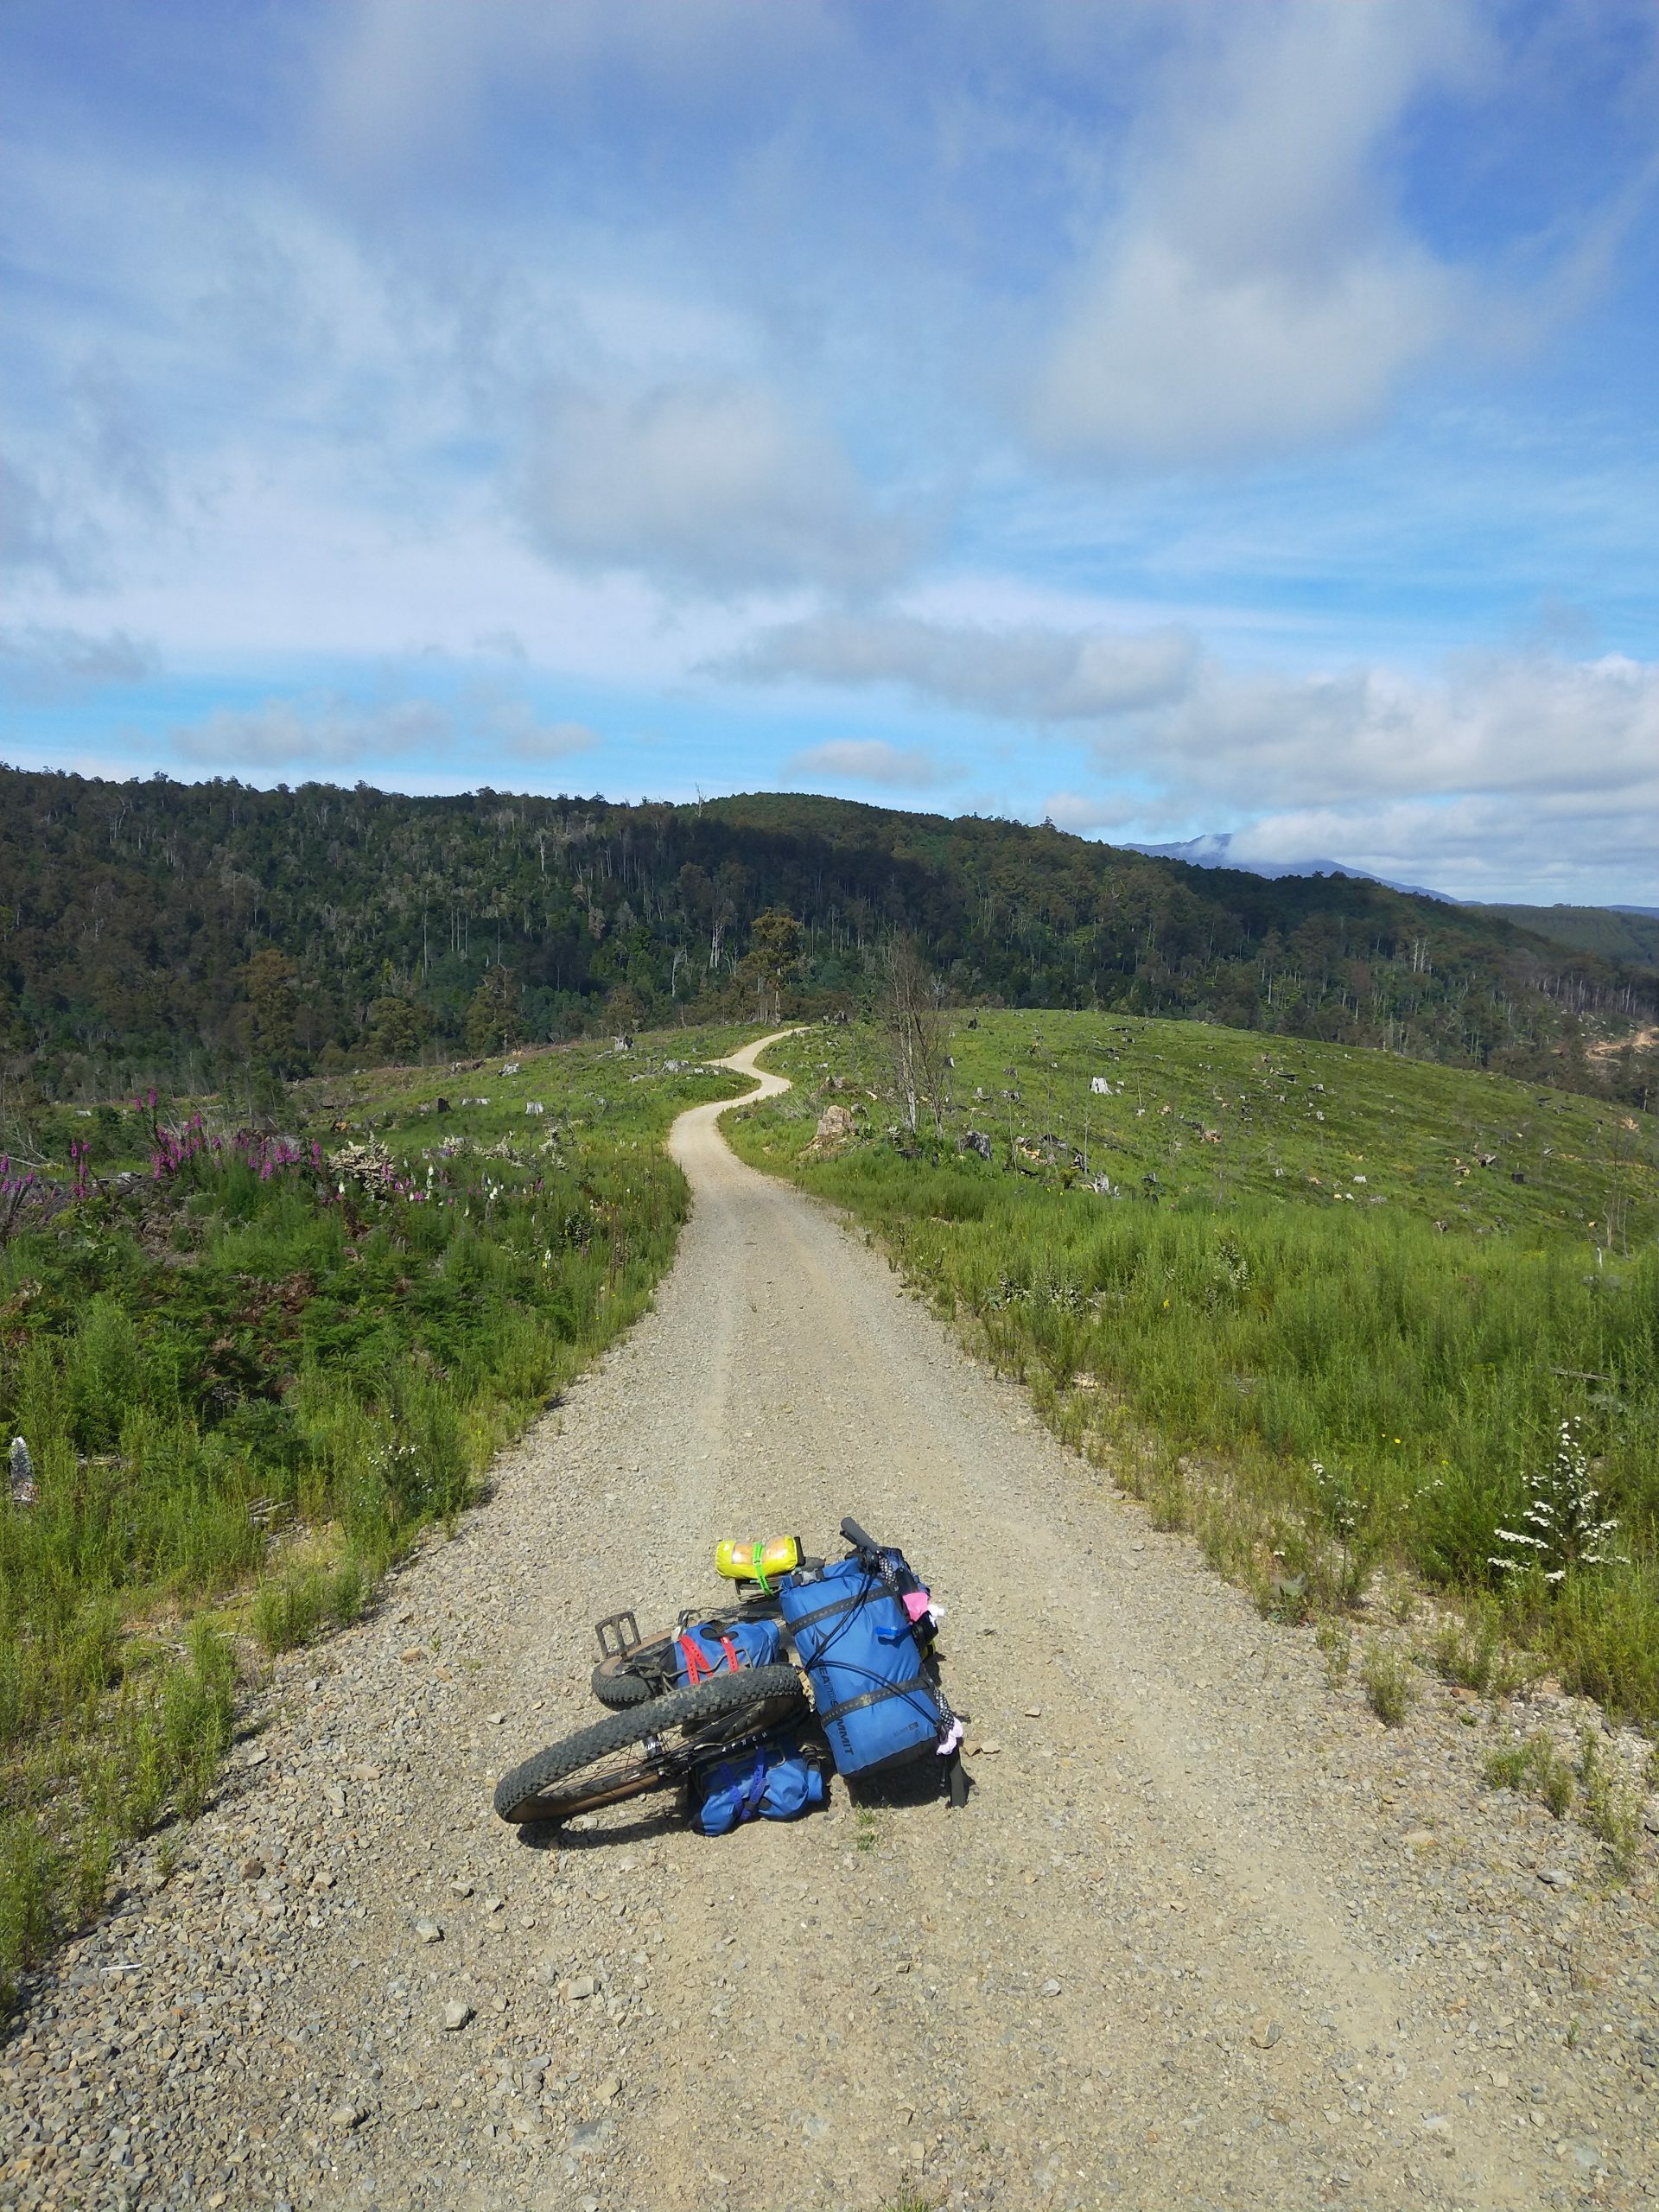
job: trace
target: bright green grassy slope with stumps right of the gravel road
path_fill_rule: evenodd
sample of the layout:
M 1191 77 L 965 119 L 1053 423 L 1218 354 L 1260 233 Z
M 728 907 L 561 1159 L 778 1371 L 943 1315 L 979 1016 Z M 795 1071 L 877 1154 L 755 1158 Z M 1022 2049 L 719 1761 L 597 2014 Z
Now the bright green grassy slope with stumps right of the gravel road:
M 925 1135 L 872 1026 L 776 1046 L 796 1091 L 728 1130 L 1263 1608 L 1398 1566 L 1464 1610 L 1453 1677 L 1522 1644 L 1659 1723 L 1652 1117 L 1190 1022 L 953 1013 L 945 1053 Z M 830 1106 L 849 1139 L 814 1141 Z M 1559 1520 L 1564 1433 L 1617 1528 L 1500 1568 L 1500 1528 Z

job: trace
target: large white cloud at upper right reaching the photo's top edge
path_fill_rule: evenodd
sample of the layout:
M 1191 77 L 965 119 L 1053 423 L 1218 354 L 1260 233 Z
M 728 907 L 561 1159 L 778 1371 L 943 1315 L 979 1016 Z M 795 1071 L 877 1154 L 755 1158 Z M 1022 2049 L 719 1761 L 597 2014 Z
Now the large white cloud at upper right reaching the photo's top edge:
M 1471 279 L 1389 204 L 1411 102 L 1467 73 L 1460 4 L 1232 9 L 1141 119 L 1124 206 L 1033 380 L 1053 458 L 1203 462 L 1356 429 L 1453 332 Z

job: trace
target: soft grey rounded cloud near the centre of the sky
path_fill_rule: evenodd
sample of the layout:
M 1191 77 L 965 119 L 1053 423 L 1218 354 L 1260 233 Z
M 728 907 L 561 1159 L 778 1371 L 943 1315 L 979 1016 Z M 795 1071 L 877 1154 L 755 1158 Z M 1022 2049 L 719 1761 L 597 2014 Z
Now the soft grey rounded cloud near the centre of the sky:
M 825 431 L 737 380 L 551 392 L 518 504 L 557 562 L 717 593 L 865 588 L 916 551 Z

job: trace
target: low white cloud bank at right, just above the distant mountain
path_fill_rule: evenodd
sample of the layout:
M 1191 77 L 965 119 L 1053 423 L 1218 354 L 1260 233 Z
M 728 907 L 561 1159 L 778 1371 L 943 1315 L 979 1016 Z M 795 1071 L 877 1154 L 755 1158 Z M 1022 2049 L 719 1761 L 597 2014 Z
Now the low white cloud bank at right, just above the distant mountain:
M 1157 841 L 1237 823 L 1237 863 L 1327 858 L 1460 898 L 1652 900 L 1652 661 L 1511 655 L 1312 679 L 1208 661 L 1186 699 L 1128 739 L 1097 732 L 1093 754 L 1124 783 L 1051 801 L 1064 827 Z

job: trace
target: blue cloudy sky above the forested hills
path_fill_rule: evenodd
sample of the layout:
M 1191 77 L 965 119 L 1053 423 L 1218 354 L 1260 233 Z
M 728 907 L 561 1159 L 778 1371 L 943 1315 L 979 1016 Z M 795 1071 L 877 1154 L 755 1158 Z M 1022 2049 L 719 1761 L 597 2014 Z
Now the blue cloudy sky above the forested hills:
M 0 759 L 1659 905 L 1659 11 L 0 0 Z

